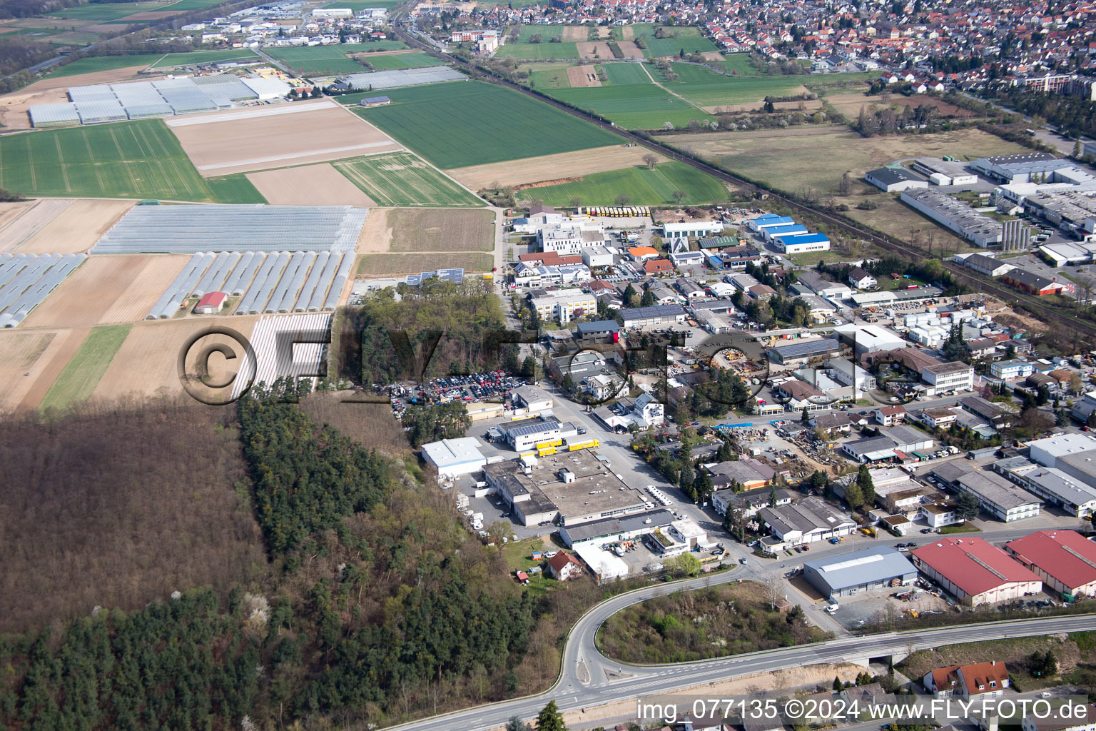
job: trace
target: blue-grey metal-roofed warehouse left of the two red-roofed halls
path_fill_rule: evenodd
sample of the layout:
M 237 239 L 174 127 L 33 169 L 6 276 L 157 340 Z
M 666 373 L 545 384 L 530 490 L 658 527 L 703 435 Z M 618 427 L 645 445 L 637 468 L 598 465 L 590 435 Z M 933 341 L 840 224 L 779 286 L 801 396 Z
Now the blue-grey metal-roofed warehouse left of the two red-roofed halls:
M 890 546 L 831 556 L 803 563 L 803 578 L 831 601 L 889 586 L 909 586 L 917 569 Z

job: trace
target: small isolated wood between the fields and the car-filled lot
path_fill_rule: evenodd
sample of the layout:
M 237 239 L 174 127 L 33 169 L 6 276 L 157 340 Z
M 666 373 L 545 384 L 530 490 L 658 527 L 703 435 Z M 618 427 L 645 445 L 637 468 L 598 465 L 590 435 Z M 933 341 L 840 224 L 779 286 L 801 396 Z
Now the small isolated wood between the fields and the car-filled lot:
M 384 289 L 346 308 L 334 373 L 368 387 L 499 366 L 501 349 L 487 335 L 504 327 L 502 307 L 482 282 L 429 279 L 396 294 Z M 400 332 L 406 341 L 393 339 Z

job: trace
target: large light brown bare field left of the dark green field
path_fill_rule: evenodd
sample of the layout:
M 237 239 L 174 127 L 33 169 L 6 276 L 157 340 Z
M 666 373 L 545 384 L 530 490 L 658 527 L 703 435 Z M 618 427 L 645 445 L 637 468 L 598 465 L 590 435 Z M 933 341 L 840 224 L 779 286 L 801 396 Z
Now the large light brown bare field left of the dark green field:
M 164 122 L 206 176 L 403 149 L 329 101 L 192 114 Z

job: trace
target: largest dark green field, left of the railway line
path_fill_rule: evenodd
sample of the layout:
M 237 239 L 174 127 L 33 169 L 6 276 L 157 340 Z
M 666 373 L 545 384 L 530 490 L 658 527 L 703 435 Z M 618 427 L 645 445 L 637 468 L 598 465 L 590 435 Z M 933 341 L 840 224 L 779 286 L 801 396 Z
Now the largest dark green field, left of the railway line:
M 355 107 L 438 168 L 461 168 L 619 144 L 620 139 L 535 99 L 482 81 L 385 92 L 388 106 Z M 344 104 L 365 94 L 341 96 Z

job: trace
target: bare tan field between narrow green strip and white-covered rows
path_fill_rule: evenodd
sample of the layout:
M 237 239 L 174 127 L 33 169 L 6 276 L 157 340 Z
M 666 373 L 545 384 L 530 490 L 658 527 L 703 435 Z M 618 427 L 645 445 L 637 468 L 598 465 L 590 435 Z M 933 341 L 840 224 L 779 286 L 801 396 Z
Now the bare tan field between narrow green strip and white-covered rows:
M 217 324 L 236 330 L 244 338 L 251 336 L 251 331 L 260 316 L 222 318 Z M 183 396 L 179 384 L 176 359 L 179 351 L 186 339 L 202 330 L 214 318 L 185 320 L 164 320 L 159 322 L 138 322 L 130 329 L 122 347 L 115 354 L 106 373 L 95 386 L 92 398 L 95 400 L 115 400 L 119 398 L 144 398 L 149 396 Z M 214 342 L 209 339 L 208 342 Z M 219 338 L 216 340 L 220 340 Z M 203 340 L 203 343 L 207 341 Z M 225 339 L 228 345 L 232 340 Z M 239 351 L 239 345 L 235 349 Z M 210 375 L 219 377 L 215 358 L 210 358 Z M 186 397 L 189 398 L 189 397 Z

